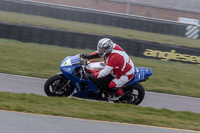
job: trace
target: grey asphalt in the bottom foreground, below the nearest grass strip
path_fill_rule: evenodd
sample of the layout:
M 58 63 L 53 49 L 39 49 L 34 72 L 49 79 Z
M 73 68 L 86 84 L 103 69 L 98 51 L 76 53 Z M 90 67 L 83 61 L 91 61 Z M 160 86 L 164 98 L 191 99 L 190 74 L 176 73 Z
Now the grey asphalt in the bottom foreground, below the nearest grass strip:
M 195 133 L 195 131 L 0 111 L 1 133 Z

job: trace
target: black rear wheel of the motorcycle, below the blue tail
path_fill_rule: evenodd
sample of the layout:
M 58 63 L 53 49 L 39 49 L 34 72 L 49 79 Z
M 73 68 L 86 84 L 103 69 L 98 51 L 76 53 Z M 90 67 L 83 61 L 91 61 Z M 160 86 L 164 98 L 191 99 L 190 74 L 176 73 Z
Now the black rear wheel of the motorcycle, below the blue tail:
M 125 96 L 130 100 L 128 103 L 139 105 L 144 99 L 145 91 L 141 84 L 136 83 L 125 88 Z

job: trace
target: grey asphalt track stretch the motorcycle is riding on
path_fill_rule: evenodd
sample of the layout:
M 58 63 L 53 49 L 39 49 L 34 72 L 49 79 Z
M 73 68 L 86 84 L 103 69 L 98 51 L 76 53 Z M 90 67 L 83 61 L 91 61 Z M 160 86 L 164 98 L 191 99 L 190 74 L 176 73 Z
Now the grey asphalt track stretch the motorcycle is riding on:
M 46 79 L 41 78 L 0 73 L 0 91 L 46 96 L 43 91 L 45 81 Z M 200 113 L 200 98 L 146 92 L 140 106 Z

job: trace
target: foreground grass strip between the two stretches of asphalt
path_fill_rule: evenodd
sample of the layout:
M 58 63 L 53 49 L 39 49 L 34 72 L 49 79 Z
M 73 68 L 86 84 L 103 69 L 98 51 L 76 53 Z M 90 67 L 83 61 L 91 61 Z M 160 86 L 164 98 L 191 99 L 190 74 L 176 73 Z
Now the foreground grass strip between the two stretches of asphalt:
M 1 92 L 0 109 L 200 131 L 200 114 L 130 104 Z

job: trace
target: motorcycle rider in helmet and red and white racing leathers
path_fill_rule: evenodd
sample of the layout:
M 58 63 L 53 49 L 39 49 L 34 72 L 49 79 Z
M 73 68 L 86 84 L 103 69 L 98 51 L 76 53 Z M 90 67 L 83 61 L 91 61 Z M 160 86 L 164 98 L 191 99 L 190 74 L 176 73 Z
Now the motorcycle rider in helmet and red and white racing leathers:
M 97 51 L 80 54 L 85 59 L 104 58 L 105 68 L 89 75 L 91 79 L 107 80 L 112 75 L 108 88 L 114 93 L 111 100 L 118 100 L 123 94 L 121 87 L 134 77 L 134 63 L 126 52 L 109 38 L 102 38 L 97 44 Z

